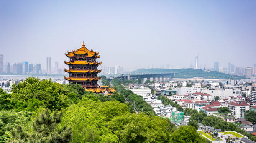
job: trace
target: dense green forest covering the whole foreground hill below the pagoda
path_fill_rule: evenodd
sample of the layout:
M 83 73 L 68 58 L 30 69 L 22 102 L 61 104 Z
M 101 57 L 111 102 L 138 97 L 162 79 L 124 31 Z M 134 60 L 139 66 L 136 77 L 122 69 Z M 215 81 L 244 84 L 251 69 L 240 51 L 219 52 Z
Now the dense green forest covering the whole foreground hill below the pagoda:
M 14 85 L 11 94 L 0 89 L 0 142 L 207 142 L 196 128 L 177 128 L 168 119 L 154 115 L 136 94 L 120 85 L 115 89 L 120 93 L 93 94 L 79 84 L 62 85 L 36 78 Z M 125 96 L 143 112 L 134 113 Z

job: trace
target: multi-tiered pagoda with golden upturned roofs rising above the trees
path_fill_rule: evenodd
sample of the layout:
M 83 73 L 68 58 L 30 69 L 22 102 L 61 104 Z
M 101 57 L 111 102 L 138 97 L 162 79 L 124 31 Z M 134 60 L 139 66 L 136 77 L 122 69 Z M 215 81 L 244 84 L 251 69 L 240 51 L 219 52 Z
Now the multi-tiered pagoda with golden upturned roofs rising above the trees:
M 83 42 L 80 49 L 68 51 L 66 54 L 69 57 L 69 62 L 65 62 L 69 66 L 69 69 L 64 69 L 69 73 L 69 77 L 64 77 L 69 83 L 80 84 L 86 91 L 92 91 L 96 93 L 111 93 L 114 89 L 101 88 L 97 84 L 97 81 L 101 79 L 98 77 L 98 73 L 101 69 L 98 66 L 101 62 L 97 62 L 97 58 L 100 58 L 99 52 L 88 50 Z

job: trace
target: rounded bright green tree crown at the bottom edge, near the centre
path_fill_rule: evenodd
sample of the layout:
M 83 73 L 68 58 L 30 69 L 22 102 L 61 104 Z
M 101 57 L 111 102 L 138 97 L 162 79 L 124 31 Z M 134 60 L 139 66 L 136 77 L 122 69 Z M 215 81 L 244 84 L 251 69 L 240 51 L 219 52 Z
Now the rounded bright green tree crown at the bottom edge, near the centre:
M 124 114 L 113 118 L 108 127 L 122 143 L 169 142 L 169 124 L 158 116 L 149 117 L 143 113 Z

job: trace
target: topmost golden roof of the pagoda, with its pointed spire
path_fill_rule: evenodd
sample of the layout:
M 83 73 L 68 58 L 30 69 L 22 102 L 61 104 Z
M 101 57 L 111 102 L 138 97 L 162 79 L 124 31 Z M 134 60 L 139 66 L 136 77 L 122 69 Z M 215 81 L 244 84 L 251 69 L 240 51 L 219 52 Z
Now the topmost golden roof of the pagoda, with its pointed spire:
M 93 57 L 93 56 L 96 56 L 98 58 L 100 57 L 99 52 L 94 52 L 93 50 L 90 51 L 89 49 L 87 49 L 84 45 L 84 42 L 80 49 L 73 50 L 72 52 L 68 51 L 68 54 L 66 54 L 66 56 L 73 57 L 74 54 L 87 54 L 87 57 Z

